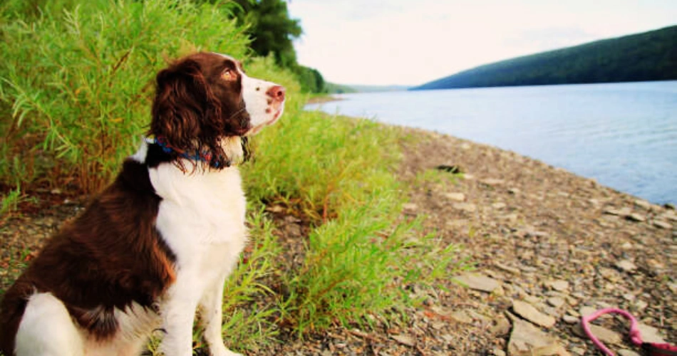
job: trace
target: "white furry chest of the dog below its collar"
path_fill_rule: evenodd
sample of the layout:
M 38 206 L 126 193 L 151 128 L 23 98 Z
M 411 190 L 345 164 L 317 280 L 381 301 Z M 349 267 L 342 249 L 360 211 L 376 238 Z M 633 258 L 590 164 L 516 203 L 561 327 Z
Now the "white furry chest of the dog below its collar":
M 150 181 L 162 198 L 156 226 L 177 257 L 207 270 L 231 266 L 244 248 L 246 201 L 237 168 L 183 173 L 172 164 L 150 169 Z M 219 261 L 221 260 L 221 261 Z

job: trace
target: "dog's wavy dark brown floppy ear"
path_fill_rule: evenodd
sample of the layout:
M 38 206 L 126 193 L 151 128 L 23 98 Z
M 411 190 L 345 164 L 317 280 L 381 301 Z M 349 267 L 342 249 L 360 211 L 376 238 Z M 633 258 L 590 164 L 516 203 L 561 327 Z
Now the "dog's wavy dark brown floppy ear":
M 179 61 L 157 73 L 156 81 L 150 134 L 162 137 L 172 147 L 169 153 L 173 159 L 184 153 L 210 152 L 211 167 L 227 166 L 227 162 L 220 162 L 226 161 L 219 145 L 224 130 L 221 103 L 210 90 L 200 64 L 192 59 Z

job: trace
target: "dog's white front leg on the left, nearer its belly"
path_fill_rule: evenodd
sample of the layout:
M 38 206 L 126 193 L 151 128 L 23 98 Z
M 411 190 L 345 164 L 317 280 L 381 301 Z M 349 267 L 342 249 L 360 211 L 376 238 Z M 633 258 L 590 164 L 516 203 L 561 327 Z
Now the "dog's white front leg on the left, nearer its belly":
M 160 311 L 165 331 L 160 351 L 165 356 L 192 355 L 192 324 L 199 299 L 195 288 L 182 286 L 179 280 L 168 291 Z

